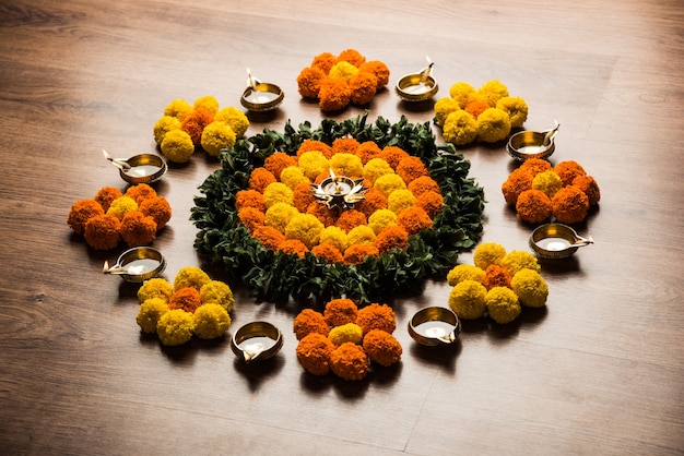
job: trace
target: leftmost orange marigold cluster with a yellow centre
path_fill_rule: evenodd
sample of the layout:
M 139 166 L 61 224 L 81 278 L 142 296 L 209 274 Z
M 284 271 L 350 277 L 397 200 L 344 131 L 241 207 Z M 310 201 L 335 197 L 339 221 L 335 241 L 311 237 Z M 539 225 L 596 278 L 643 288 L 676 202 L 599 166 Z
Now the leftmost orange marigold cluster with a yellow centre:
M 92 199 L 73 203 L 67 224 L 96 250 L 146 245 L 170 219 L 172 208 L 164 196 L 146 183 L 129 187 L 126 193 L 103 187 Z

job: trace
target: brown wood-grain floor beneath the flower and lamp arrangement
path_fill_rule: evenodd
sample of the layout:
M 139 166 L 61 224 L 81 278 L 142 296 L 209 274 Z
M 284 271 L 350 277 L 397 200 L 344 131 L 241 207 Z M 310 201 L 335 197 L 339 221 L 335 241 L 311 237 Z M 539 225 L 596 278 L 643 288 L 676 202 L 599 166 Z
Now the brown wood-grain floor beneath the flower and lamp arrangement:
M 553 161 L 577 160 L 601 187 L 600 211 L 578 226 L 595 244 L 543 264 L 545 311 L 467 324 L 452 349 L 405 331 L 421 307 L 447 304 L 448 285 L 399 300 L 402 361 L 358 383 L 305 374 L 294 315 L 238 284 L 233 328 L 262 319 L 285 333 L 272 362 L 247 369 L 227 338 L 167 350 L 142 337 L 135 288 L 102 274 L 120 251 L 91 251 L 66 224 L 76 200 L 125 189 L 102 148 L 155 152 L 152 127 L 175 98 L 240 107 L 247 68 L 285 92 L 248 135 L 318 125 L 296 75 L 346 48 L 386 62 L 390 85 L 429 56 L 438 97 L 497 79 L 528 101 L 526 128 L 557 119 Z M 433 117 L 392 89 L 369 109 Z M 2 454 L 684 453 L 681 0 L 4 1 L 0 112 Z M 527 249 L 530 228 L 499 190 L 515 164 L 503 147 L 464 154 L 488 201 L 482 241 Z M 198 154 L 157 185 L 174 209 L 154 242 L 166 277 L 207 266 L 189 216 L 217 166 Z

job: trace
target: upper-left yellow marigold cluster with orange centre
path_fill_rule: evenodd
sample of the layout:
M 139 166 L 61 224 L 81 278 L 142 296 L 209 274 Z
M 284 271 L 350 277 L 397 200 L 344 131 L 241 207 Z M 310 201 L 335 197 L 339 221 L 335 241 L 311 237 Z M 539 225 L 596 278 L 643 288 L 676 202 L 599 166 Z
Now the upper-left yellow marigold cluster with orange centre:
M 200 147 L 217 157 L 248 127 L 249 119 L 243 111 L 232 106 L 219 109 L 219 101 L 211 95 L 197 98 L 193 105 L 175 99 L 154 124 L 154 141 L 169 161 L 182 164 Z

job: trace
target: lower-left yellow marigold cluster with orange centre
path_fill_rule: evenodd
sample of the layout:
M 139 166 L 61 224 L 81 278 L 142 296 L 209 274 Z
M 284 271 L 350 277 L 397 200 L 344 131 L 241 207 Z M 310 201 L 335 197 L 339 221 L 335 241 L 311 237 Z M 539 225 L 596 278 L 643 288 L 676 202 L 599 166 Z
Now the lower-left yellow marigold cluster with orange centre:
M 182 345 L 192 335 L 201 339 L 221 337 L 231 326 L 235 302 L 226 284 L 212 280 L 193 266 L 181 268 L 173 284 L 160 277 L 145 280 L 138 299 L 138 325 L 167 346 Z

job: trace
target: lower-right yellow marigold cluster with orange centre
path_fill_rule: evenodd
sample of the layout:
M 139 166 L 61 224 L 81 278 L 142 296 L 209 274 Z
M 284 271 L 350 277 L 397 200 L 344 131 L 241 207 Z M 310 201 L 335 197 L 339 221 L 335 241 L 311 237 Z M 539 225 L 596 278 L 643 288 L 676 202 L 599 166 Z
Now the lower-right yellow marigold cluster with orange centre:
M 546 304 L 549 286 L 541 276 L 536 257 L 530 252 L 506 249 L 495 242 L 477 245 L 473 263 L 459 264 L 447 274 L 453 288 L 449 307 L 459 319 L 488 315 L 496 323 L 510 323 L 522 307 Z

